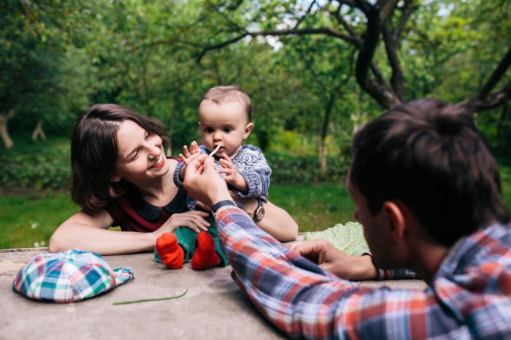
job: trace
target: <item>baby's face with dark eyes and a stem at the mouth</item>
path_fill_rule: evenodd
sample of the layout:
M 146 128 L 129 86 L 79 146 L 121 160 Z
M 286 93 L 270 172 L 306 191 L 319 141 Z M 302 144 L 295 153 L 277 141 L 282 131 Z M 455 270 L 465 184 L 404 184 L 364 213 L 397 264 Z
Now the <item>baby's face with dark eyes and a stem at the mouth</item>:
M 252 123 L 247 122 L 243 105 L 239 102 L 216 104 L 204 100 L 199 106 L 200 133 L 204 145 L 213 151 L 218 144 L 222 147 L 215 155 L 221 157 L 225 153 L 235 156 L 241 149 L 243 139 L 252 130 Z

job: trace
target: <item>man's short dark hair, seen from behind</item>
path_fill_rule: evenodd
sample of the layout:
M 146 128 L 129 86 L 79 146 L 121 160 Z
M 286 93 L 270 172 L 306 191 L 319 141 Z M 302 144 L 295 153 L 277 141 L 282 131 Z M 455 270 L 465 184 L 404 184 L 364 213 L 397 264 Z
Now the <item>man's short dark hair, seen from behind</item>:
M 497 163 L 461 107 L 434 99 L 394 107 L 356 133 L 353 149 L 350 180 L 373 215 L 400 200 L 445 246 L 509 222 Z

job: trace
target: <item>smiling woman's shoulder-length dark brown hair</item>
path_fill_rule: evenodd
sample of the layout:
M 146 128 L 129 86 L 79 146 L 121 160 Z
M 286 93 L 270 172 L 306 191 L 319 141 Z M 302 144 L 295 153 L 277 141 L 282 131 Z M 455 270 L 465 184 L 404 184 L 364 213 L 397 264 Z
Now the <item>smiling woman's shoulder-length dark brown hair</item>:
M 117 164 L 117 131 L 126 119 L 167 142 L 165 128 L 157 120 L 115 104 L 90 107 L 78 119 L 71 140 L 71 196 L 86 212 L 101 209 L 126 189 L 125 181 L 110 181 Z

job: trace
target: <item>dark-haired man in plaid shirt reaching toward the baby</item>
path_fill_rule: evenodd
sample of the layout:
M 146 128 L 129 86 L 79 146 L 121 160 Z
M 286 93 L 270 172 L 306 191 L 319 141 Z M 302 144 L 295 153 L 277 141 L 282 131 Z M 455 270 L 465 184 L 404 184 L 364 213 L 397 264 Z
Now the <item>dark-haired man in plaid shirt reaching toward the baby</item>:
M 511 338 L 509 214 L 472 116 L 414 101 L 365 125 L 353 149 L 346 187 L 374 264 L 410 268 L 429 287 L 372 289 L 333 276 L 324 268 L 343 267 L 337 274 L 344 277 L 357 269 L 319 241 L 295 253 L 259 230 L 229 202 L 212 159 L 202 157 L 184 186 L 212 206 L 222 249 L 251 301 L 292 337 Z

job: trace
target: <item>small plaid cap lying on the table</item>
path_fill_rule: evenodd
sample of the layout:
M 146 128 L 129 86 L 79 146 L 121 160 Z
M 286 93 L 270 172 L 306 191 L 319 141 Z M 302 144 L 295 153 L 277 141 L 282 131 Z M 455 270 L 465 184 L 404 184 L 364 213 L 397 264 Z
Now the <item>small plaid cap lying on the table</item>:
M 134 279 L 131 269 L 112 271 L 100 255 L 71 249 L 35 256 L 19 271 L 12 289 L 30 299 L 74 302 L 131 279 Z

